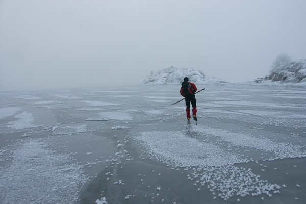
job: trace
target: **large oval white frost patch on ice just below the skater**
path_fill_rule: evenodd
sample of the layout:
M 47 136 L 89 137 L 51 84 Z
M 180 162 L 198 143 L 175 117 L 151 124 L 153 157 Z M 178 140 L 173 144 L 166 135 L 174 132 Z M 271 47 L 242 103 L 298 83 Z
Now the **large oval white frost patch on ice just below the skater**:
M 224 166 L 244 162 L 214 144 L 201 143 L 181 132 L 142 132 L 136 139 L 143 142 L 149 154 L 179 167 Z

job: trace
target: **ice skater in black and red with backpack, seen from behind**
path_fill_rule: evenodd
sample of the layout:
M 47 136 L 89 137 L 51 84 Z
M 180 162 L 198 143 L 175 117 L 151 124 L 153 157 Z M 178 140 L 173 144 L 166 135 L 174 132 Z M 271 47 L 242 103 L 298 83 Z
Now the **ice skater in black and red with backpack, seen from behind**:
M 195 121 L 197 121 L 196 117 L 196 99 L 194 93 L 196 92 L 197 88 L 195 84 L 189 82 L 188 77 L 184 78 L 184 82 L 182 82 L 182 87 L 180 93 L 183 97 L 185 97 L 186 103 L 186 115 L 188 121 L 190 120 L 190 102 L 192 105 L 192 116 Z

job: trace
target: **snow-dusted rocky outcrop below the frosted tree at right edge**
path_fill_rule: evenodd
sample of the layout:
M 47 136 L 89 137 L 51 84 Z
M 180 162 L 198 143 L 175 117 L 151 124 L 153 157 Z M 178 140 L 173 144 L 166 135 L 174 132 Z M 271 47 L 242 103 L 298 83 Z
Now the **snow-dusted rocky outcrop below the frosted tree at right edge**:
M 256 83 L 281 82 L 304 83 L 306 81 L 306 59 L 291 62 L 273 69 L 265 78 L 258 78 Z

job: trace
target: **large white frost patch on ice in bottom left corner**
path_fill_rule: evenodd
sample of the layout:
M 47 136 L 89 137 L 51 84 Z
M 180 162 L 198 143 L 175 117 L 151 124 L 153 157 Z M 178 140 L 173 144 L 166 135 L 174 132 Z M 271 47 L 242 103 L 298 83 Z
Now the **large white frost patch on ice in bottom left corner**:
M 69 155 L 49 150 L 39 139 L 29 139 L 12 156 L 12 164 L 0 168 L 2 203 L 77 202 L 87 178 Z

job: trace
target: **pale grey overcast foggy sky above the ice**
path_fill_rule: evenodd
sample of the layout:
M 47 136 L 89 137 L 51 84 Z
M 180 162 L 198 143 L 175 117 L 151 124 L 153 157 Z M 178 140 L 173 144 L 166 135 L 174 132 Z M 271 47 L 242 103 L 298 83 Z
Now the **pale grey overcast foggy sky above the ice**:
M 0 0 L 0 90 L 135 84 L 188 67 L 230 82 L 306 58 L 306 1 Z

